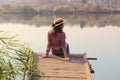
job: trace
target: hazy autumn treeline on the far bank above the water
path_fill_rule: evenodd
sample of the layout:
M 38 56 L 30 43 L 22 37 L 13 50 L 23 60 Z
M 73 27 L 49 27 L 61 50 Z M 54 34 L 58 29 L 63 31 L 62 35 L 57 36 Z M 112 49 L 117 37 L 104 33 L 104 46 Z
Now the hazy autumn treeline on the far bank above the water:
M 120 12 L 117 0 L 111 3 L 109 0 L 104 0 L 103 3 L 102 0 L 99 1 L 101 3 L 97 2 L 97 0 L 27 0 L 26 3 L 6 4 L 2 5 L 2 7 L 7 12 L 32 14 Z

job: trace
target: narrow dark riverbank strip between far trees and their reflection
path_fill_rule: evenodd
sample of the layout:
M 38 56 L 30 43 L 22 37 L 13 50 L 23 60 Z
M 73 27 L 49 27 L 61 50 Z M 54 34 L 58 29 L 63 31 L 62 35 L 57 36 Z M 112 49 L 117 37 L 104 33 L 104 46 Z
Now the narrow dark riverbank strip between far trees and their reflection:
M 60 15 L 60 14 L 75 14 L 75 15 L 80 15 L 80 14 L 120 14 L 120 10 L 98 10 L 98 11 L 53 11 L 53 10 L 41 10 L 40 12 L 37 11 L 20 11 L 20 12 L 0 12 L 0 14 L 40 14 L 40 15 Z

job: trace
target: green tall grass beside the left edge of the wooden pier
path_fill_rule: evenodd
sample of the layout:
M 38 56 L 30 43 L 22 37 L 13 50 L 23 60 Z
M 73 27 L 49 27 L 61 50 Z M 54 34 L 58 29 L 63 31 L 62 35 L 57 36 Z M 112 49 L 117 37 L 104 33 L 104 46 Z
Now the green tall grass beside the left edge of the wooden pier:
M 15 37 L 0 35 L 0 80 L 30 80 L 34 72 L 29 45 L 21 44 Z

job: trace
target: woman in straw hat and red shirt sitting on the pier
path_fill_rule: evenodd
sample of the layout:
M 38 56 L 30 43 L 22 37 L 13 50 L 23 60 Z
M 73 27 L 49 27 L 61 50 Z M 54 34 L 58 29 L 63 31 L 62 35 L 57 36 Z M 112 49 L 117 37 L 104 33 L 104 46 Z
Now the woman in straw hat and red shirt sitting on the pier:
M 48 57 L 50 50 L 52 49 L 52 54 L 60 57 L 64 57 L 65 60 L 70 60 L 68 57 L 69 54 L 69 45 L 66 44 L 66 35 L 63 32 L 64 22 L 62 18 L 57 18 L 52 24 L 52 29 L 48 32 L 47 38 L 47 48 L 46 54 L 43 58 Z

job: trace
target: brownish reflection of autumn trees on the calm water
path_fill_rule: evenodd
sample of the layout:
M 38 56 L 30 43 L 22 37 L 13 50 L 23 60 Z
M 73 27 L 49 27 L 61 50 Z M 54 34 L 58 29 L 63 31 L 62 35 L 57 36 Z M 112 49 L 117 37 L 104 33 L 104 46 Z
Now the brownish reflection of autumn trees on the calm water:
M 120 27 L 120 14 L 85 14 L 85 15 L 32 15 L 32 14 L 2 14 L 0 23 L 21 23 L 28 25 L 49 26 L 55 17 L 62 17 L 70 27 L 105 27 L 112 25 Z

